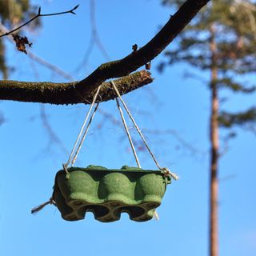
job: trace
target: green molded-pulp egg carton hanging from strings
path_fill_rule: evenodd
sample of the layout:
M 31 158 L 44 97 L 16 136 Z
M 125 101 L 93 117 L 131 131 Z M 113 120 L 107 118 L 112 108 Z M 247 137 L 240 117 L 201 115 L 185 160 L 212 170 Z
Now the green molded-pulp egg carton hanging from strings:
M 170 183 L 160 170 L 142 170 L 123 166 L 109 170 L 102 166 L 71 167 L 55 177 L 53 198 L 62 218 L 77 221 L 87 211 L 101 222 L 114 222 L 122 212 L 130 219 L 144 222 L 153 217 Z

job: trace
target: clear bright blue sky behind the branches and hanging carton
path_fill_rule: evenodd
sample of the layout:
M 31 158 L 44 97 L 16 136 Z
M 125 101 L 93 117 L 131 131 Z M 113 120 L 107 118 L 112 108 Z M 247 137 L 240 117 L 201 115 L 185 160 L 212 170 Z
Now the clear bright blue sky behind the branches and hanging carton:
M 42 6 L 42 13 L 69 10 L 80 4 L 76 16 L 43 18 L 41 30 L 27 33 L 33 42 L 34 54 L 72 74 L 75 80 L 85 78 L 105 62 L 94 47 L 88 65 L 76 70 L 90 42 L 90 1 L 33 2 Z M 143 46 L 173 12 L 153 0 L 98 0 L 98 34 L 111 60 L 129 54 L 134 43 Z M 7 47 L 8 63 L 16 69 L 10 79 L 66 82 L 25 54 L 18 53 L 10 43 Z M 54 175 L 66 162 L 68 153 L 49 142 L 39 104 L 2 101 L 0 110 L 6 118 L 0 126 L 2 255 L 207 255 L 210 94 L 202 82 L 184 78 L 188 66 L 172 66 L 159 74 L 156 67 L 162 58 L 161 55 L 152 62 L 150 71 L 154 82 L 124 97 L 142 130 L 174 130 L 179 138 L 198 150 L 194 154 L 172 134 L 146 134 L 158 162 L 180 176 L 178 182 L 168 186 L 158 208 L 160 220 L 137 223 L 122 214 L 119 222 L 101 223 L 95 221 L 92 214 L 86 214 L 85 220 L 66 222 L 54 206 L 31 215 L 31 208 L 50 198 Z M 255 94 L 236 95 L 225 107 L 243 110 L 253 103 Z M 102 103 L 100 107 L 119 119 L 113 101 Z M 48 121 L 68 152 L 87 109 L 88 106 L 81 104 L 46 105 Z M 247 130 L 237 131 L 238 137 L 230 142 L 230 150 L 219 165 L 220 254 L 253 256 L 256 254 L 256 138 Z M 138 139 L 135 132 L 132 134 Z M 155 168 L 146 152 L 138 155 L 142 167 Z M 135 166 L 125 131 L 99 113 L 77 162 L 78 166 L 89 164 L 108 168 Z

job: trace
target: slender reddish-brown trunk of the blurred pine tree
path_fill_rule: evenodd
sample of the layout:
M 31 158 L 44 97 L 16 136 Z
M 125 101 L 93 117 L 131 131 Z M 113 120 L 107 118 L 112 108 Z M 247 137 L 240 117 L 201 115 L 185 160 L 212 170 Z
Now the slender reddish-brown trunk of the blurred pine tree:
M 210 256 L 218 256 L 218 66 L 214 26 L 210 28 L 211 114 L 210 114 Z

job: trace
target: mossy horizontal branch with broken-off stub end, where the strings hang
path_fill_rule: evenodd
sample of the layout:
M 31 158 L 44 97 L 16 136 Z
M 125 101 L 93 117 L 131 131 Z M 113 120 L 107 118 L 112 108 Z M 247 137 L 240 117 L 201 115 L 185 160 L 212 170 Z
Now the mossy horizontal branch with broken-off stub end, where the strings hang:
M 84 80 L 83 80 L 84 81 Z M 0 81 L 0 99 L 18 102 L 42 102 L 51 104 L 90 103 L 92 93 L 81 82 L 18 82 Z M 150 72 L 142 70 L 114 81 L 121 94 L 126 94 L 138 87 L 153 82 Z M 104 82 L 99 97 L 101 102 L 116 98 L 110 82 Z

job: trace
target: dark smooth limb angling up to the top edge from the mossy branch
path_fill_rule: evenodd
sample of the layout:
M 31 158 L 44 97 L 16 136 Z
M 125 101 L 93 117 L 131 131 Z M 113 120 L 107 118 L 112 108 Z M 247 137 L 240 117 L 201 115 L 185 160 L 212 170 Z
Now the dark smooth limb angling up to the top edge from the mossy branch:
M 106 79 L 130 74 L 140 66 L 153 60 L 173 41 L 207 2 L 210 2 L 210 0 L 187 0 L 174 16 L 170 17 L 162 30 L 145 46 L 118 61 L 102 64 L 85 78 L 83 81 L 87 87 L 86 90 L 94 90 Z

